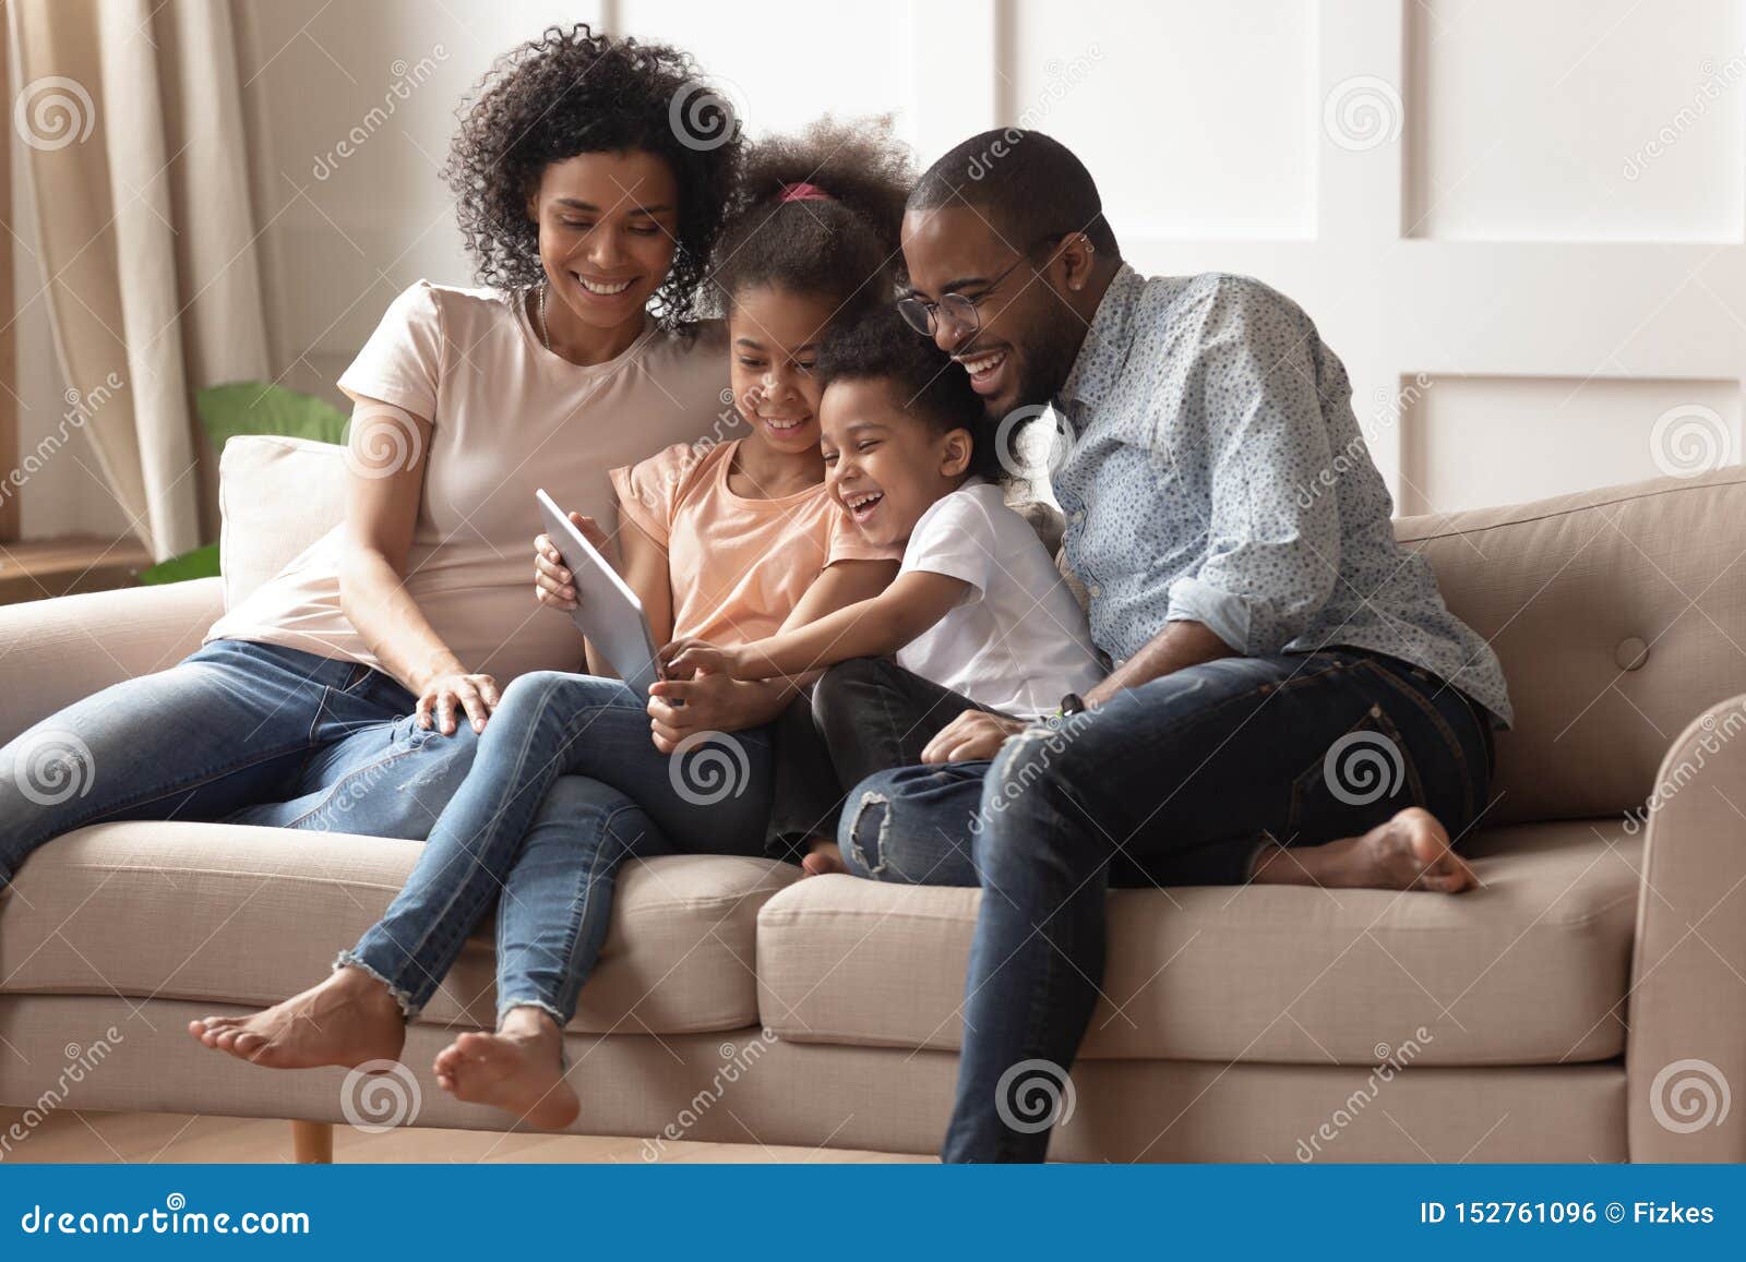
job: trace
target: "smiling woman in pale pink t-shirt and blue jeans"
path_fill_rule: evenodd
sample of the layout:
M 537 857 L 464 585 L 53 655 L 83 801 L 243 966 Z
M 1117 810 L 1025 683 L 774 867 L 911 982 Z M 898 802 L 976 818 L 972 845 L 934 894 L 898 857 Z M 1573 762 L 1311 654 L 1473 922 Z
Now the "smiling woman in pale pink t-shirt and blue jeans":
M 496 65 L 447 169 L 489 288 L 414 285 L 340 377 L 342 525 L 180 665 L 0 751 L 0 887 L 100 820 L 423 838 L 499 681 L 581 665 L 571 621 L 527 599 L 533 492 L 609 515 L 613 466 L 719 412 L 723 347 L 691 321 L 740 147 L 672 122 L 705 91 L 684 54 L 587 26 Z M 84 794 L 14 775 L 47 740 L 86 751 Z

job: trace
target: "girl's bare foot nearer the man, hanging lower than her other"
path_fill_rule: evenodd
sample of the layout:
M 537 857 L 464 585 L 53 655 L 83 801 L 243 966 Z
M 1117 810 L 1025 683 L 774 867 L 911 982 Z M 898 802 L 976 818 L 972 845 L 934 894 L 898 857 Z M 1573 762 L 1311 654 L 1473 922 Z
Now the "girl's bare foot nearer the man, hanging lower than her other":
M 464 1033 L 436 1053 L 436 1086 L 541 1131 L 562 1131 L 581 1101 L 564 1077 L 564 1035 L 541 1009 L 517 1007 L 498 1033 Z

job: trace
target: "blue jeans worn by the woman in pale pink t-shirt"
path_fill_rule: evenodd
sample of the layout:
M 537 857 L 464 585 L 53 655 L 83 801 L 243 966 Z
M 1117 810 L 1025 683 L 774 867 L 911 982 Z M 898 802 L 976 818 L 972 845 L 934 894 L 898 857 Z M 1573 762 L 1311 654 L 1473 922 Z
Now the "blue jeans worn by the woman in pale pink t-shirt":
M 473 730 L 417 728 L 416 703 L 381 670 L 251 641 L 105 688 L 0 749 L 0 887 L 49 838 L 105 820 L 417 841 L 466 775 Z

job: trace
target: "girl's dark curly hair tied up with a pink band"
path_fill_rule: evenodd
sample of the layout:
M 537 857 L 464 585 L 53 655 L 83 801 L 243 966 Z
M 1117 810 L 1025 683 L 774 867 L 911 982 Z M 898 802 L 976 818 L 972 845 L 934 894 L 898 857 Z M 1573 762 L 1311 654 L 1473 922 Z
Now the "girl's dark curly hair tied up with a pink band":
M 716 244 L 712 279 L 723 307 L 751 288 L 822 293 L 838 319 L 894 297 L 897 227 L 915 171 L 890 119 L 814 122 L 747 154 Z M 824 197 L 784 201 L 794 185 Z

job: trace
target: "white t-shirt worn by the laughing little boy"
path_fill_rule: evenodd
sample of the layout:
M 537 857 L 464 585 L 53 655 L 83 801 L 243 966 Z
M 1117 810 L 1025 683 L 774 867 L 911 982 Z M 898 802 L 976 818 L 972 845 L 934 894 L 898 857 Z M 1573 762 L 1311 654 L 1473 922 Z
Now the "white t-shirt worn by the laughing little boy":
M 1103 665 L 1084 611 L 1000 487 L 971 478 L 922 513 L 897 574 L 971 585 L 945 618 L 897 649 L 897 665 L 1021 719 L 1086 693 Z

